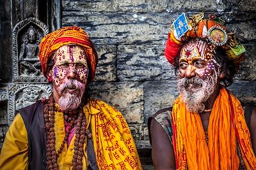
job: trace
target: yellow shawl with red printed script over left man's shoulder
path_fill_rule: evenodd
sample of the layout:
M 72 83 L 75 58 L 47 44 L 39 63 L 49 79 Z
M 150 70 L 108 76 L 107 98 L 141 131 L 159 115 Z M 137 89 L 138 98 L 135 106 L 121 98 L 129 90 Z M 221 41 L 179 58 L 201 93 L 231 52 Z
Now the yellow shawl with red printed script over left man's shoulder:
M 142 170 L 136 145 L 123 115 L 113 106 L 99 100 L 90 100 L 84 107 L 86 109 L 89 110 L 99 169 Z

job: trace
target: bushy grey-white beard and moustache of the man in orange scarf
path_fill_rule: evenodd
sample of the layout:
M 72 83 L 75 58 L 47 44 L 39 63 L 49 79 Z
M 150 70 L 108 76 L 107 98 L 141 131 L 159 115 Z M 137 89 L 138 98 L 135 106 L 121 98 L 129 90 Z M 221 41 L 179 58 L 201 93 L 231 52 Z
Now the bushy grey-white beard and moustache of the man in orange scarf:
M 186 104 L 186 109 L 195 113 L 202 113 L 205 101 L 213 94 L 218 81 L 218 73 L 214 73 L 206 80 L 199 77 L 181 78 L 177 82 L 181 101 Z

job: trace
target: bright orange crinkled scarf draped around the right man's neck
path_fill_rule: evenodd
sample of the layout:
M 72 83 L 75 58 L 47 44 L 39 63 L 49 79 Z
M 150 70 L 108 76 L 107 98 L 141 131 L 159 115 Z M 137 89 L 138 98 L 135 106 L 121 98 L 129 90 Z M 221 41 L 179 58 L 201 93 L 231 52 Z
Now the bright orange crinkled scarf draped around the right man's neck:
M 237 141 L 246 169 L 256 169 L 241 103 L 223 87 L 209 118 L 208 145 L 200 115 L 186 111 L 180 97 L 173 105 L 172 121 L 176 169 L 239 169 Z

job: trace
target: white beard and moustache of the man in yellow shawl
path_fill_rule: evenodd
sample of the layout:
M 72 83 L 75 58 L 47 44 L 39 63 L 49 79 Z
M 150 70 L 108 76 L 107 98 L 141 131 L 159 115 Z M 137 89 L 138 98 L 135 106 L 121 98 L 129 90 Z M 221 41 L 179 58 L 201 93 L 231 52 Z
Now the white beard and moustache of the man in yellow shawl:
M 76 89 L 76 91 L 70 94 L 66 89 Z M 75 110 L 81 103 L 84 89 L 85 85 L 77 80 L 68 80 L 62 83 L 58 88 L 62 94 L 58 101 L 61 110 Z

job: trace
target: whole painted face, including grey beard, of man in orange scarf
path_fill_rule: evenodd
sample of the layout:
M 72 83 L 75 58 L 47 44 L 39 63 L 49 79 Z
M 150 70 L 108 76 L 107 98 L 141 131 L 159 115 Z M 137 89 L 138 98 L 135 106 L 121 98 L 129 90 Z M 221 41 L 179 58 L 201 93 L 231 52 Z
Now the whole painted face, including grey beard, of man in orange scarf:
M 205 101 L 218 84 L 219 65 L 214 60 L 212 49 L 214 46 L 196 39 L 184 45 L 180 52 L 177 87 L 189 111 L 204 111 Z

